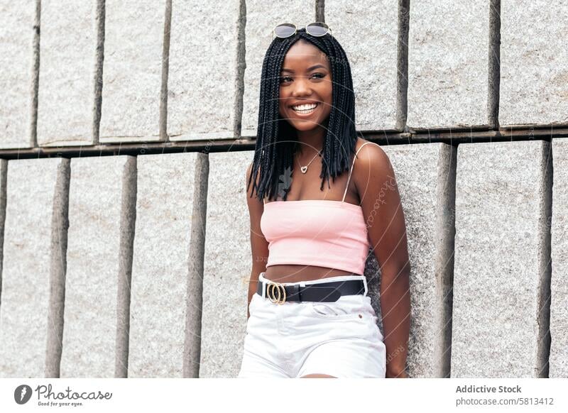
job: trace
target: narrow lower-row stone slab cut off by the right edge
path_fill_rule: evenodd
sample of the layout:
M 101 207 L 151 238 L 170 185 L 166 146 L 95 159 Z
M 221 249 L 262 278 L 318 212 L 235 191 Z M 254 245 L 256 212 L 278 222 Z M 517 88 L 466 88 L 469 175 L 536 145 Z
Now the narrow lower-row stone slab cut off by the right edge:
M 568 140 L 552 141 L 550 378 L 568 378 Z

